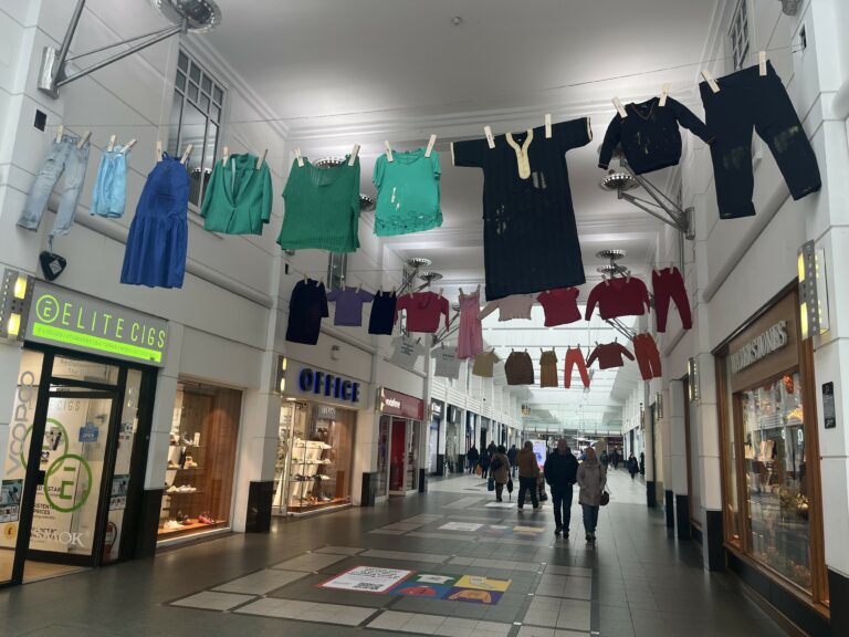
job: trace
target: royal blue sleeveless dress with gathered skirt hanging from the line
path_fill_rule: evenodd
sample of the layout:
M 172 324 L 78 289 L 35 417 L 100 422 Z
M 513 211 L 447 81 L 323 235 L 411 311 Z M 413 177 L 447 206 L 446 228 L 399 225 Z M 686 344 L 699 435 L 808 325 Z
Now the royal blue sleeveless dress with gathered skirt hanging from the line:
M 188 209 L 189 174 L 179 159 L 164 154 L 138 199 L 124 252 L 122 283 L 182 288 Z

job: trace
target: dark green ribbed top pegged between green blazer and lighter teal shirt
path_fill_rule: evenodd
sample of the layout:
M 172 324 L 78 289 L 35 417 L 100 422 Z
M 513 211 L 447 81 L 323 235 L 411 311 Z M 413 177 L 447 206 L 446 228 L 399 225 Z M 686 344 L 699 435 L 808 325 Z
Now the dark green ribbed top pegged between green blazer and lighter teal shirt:
M 317 248 L 354 252 L 359 248 L 359 157 L 348 166 L 317 168 L 304 157 L 292 163 L 283 189 L 286 203 L 277 243 L 284 250 Z

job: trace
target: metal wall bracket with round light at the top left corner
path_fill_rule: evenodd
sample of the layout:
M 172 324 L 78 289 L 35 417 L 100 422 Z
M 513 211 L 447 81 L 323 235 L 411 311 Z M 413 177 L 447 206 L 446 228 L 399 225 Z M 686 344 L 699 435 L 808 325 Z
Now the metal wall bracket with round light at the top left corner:
M 212 0 L 151 0 L 151 3 L 165 18 L 169 19 L 175 24 L 171 27 L 166 27 L 165 29 L 159 29 L 157 31 L 144 33 L 143 35 L 136 35 L 135 38 L 129 38 L 128 40 L 122 40 L 120 42 L 115 42 L 114 44 L 99 46 L 92 51 L 87 51 L 86 53 L 81 53 L 80 55 L 69 58 L 67 53 L 71 49 L 71 41 L 74 39 L 76 27 L 80 23 L 80 18 L 83 14 L 83 9 L 85 8 L 85 0 L 77 0 L 76 8 L 71 15 L 71 23 L 67 25 L 67 31 L 65 32 L 65 36 L 62 40 L 61 48 L 44 48 L 41 56 L 41 67 L 39 70 L 38 77 L 39 91 L 46 93 L 55 100 L 59 97 L 59 88 L 65 84 L 75 82 L 76 80 L 80 80 L 80 77 L 85 77 L 90 73 L 94 73 L 104 66 L 108 66 L 113 62 L 123 60 L 133 53 L 143 51 L 144 49 L 153 46 L 154 44 L 167 40 L 172 35 L 177 35 L 178 33 L 188 33 L 189 31 L 208 31 L 216 28 L 221 22 L 221 11 Z M 139 40 L 142 40 L 142 42 L 138 42 Z M 123 46 L 132 42 L 138 43 L 128 49 L 119 51 L 118 53 L 115 53 L 114 55 L 111 55 L 109 58 L 106 58 L 96 64 L 92 64 L 82 71 L 77 71 L 73 74 L 67 73 L 67 63 L 73 60 L 78 60 L 81 58 L 92 55 L 93 53 L 101 53 L 109 49 L 115 49 L 116 46 Z

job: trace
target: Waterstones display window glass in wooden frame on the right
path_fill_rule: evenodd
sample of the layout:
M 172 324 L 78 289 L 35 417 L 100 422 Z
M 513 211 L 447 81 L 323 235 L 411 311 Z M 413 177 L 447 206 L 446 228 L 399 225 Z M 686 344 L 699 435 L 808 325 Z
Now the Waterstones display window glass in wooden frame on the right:
M 738 394 L 753 556 L 810 589 L 810 524 L 798 373 Z

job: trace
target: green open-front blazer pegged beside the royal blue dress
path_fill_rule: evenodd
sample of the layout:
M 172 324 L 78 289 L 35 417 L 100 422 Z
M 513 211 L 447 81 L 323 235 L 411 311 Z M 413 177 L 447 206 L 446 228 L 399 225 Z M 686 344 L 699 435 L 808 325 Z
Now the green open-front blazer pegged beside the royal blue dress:
M 212 170 L 200 208 L 203 228 L 224 234 L 262 234 L 272 202 L 269 165 L 263 161 L 258 170 L 255 155 L 231 155 Z

